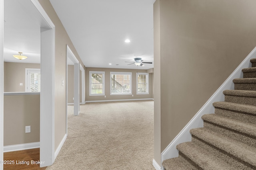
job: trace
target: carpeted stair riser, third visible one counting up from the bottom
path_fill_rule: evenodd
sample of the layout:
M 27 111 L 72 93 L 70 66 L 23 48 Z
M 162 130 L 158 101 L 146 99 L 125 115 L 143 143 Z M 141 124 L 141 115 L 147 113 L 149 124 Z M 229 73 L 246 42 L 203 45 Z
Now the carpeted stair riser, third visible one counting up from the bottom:
M 246 143 L 247 145 L 250 145 L 252 147 L 256 147 L 256 137 L 250 137 L 249 135 L 243 134 L 241 132 L 227 129 L 225 127 L 221 127 L 219 125 L 212 124 L 207 121 L 204 121 L 204 127 L 208 128 L 216 133 L 219 133 L 221 135 L 230 137 L 231 139 L 234 139 L 236 141 L 240 141 L 240 142 Z

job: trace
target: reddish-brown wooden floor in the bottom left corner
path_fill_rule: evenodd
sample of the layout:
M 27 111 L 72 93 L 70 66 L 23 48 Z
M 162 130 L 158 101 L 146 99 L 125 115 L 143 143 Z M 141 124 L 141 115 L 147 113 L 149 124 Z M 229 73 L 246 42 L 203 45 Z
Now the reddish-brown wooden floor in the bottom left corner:
M 19 150 L 4 153 L 4 170 L 45 170 L 40 168 L 40 149 Z

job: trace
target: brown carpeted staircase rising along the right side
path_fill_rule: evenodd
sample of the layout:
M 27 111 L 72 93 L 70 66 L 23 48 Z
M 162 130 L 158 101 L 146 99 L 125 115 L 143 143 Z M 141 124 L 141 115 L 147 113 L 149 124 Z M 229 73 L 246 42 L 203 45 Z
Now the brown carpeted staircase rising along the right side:
M 177 145 L 179 156 L 164 160 L 166 170 L 256 170 L 256 59 L 214 102 L 215 114 L 202 116 L 204 127 L 191 129 L 192 141 Z

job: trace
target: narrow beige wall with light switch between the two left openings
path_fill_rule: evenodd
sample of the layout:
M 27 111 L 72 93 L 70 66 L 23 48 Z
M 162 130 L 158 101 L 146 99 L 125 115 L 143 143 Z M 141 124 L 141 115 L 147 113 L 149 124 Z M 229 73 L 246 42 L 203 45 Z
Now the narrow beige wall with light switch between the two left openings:
M 49 0 L 38 0 L 55 25 L 55 150 L 66 134 L 66 45 L 84 67 Z

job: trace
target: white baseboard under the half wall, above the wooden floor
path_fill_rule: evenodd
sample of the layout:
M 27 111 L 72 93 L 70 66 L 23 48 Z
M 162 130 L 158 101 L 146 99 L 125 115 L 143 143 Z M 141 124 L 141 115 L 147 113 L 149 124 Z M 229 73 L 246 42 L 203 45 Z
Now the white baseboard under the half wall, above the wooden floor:
M 40 148 L 40 142 L 4 146 L 4 152 Z

